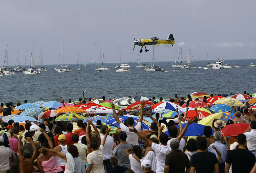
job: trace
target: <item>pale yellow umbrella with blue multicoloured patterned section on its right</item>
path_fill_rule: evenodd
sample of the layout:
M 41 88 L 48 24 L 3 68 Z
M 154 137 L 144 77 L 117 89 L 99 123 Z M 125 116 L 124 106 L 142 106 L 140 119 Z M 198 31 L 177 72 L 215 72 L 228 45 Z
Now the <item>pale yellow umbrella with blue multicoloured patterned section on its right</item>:
M 200 120 L 198 123 L 204 126 L 212 126 L 212 121 L 215 118 L 222 120 L 226 124 L 229 119 L 234 120 L 236 117 L 234 113 L 219 112 L 219 113 L 214 113 L 205 117 L 204 119 Z

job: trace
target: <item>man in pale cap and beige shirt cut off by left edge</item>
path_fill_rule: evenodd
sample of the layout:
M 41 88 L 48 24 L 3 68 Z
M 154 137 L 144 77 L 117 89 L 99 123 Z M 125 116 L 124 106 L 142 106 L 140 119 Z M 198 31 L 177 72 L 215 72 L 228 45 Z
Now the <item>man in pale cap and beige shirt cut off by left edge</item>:
M 9 148 L 6 148 L 4 145 L 4 138 L 0 136 L 0 173 L 6 173 L 10 169 L 10 157 L 11 152 Z

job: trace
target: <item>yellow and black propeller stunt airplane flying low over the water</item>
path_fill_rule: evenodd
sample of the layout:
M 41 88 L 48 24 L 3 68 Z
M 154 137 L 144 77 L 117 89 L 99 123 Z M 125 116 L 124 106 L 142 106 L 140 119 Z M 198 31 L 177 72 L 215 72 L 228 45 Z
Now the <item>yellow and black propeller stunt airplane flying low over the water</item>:
M 134 35 L 133 35 L 134 37 Z M 134 46 L 133 46 L 133 50 L 135 48 L 135 45 L 141 46 L 141 50 L 140 53 L 143 52 L 142 48 L 143 46 L 145 46 L 145 51 L 148 52 L 148 49 L 146 48 L 146 45 L 153 45 L 153 44 L 171 44 L 171 46 L 173 46 L 173 44 L 175 44 L 173 35 L 170 34 L 166 40 L 160 40 L 157 37 L 152 37 L 151 39 L 136 39 L 134 37 Z

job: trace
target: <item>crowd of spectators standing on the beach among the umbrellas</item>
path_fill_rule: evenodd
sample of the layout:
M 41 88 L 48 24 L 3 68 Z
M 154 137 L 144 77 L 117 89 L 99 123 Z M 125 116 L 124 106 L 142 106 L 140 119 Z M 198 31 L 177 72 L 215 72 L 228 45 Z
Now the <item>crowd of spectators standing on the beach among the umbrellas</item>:
M 177 94 L 169 101 L 186 104 L 184 97 L 178 98 Z M 189 96 L 188 101 L 192 101 Z M 65 106 L 63 99 L 62 102 Z M 88 102 L 92 102 L 91 98 Z M 77 104 L 84 103 L 85 98 Z M 228 120 L 227 124 L 250 122 L 250 127 L 238 136 L 224 137 L 220 132 L 222 122 L 216 119 L 212 127 L 204 127 L 204 136 L 184 137 L 188 127 L 200 120 L 198 113 L 186 120 L 187 112 L 180 114 L 177 110 L 175 120 L 167 122 L 162 114 L 153 117 L 144 103 L 141 101 L 135 123 L 132 117 L 121 122 L 119 116 L 124 113 L 116 113 L 111 102 L 112 116 L 119 124 L 111 134 L 100 120 L 94 124 L 76 117 L 78 129 L 74 131 L 72 122 L 56 122 L 54 118 L 38 119 L 37 124 L 28 121 L 24 126 L 0 118 L 0 173 L 256 173 L 256 112 L 252 109 L 249 112 L 244 107 L 243 116 L 236 111 L 236 119 Z M 10 115 L 15 107 L 12 103 L 1 104 L 0 113 Z M 145 116 L 153 121 L 148 133 L 142 131 Z M 187 124 L 183 128 L 184 122 Z M 163 133 L 164 128 L 169 136 Z

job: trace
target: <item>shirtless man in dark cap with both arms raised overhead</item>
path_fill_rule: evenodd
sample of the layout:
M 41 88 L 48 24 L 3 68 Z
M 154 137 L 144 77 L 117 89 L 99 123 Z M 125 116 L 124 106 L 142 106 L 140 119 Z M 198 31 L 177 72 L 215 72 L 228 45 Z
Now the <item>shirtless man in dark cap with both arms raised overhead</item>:
M 20 165 L 21 165 L 21 173 L 30 173 L 33 172 L 33 166 L 34 166 L 34 160 L 37 156 L 37 148 L 33 142 L 33 140 L 30 137 L 26 138 L 27 142 L 30 142 L 33 147 L 33 154 L 31 157 L 31 153 L 29 150 L 25 150 L 22 153 L 21 145 L 22 145 L 22 135 L 19 135 L 19 145 L 18 145 L 18 153 L 19 153 L 19 159 L 20 159 Z

